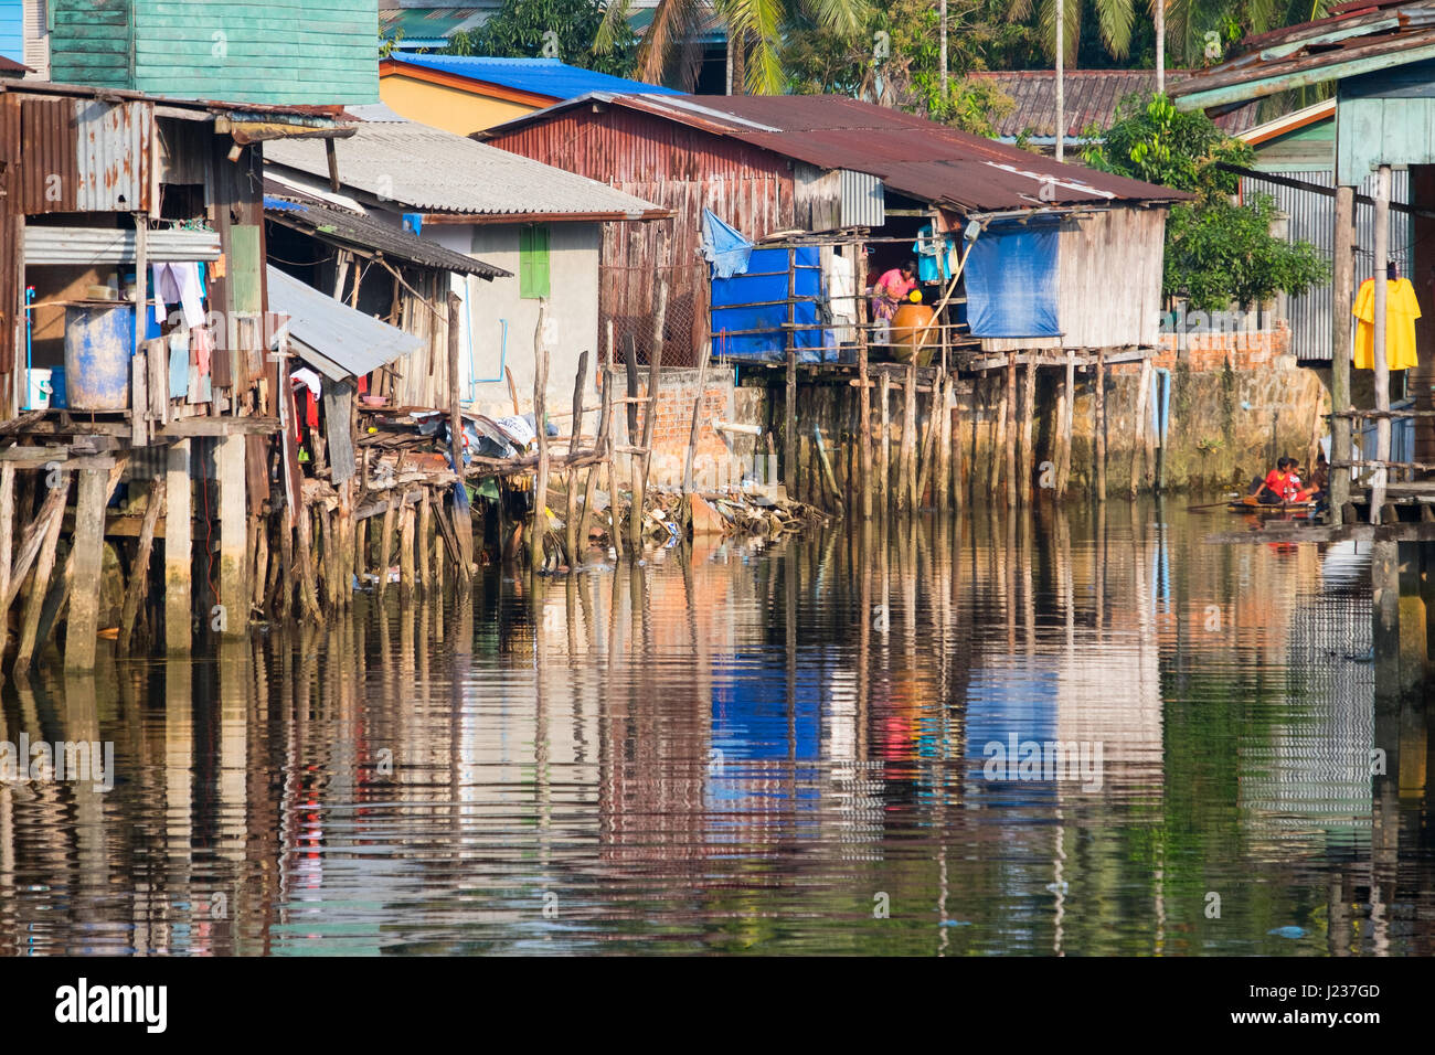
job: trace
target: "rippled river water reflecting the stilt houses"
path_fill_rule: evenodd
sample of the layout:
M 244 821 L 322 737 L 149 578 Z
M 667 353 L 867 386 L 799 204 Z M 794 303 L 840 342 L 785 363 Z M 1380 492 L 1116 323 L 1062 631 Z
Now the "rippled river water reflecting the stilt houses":
M 0 741 L 113 762 L 0 782 L 0 955 L 1435 952 L 1369 555 L 1182 505 L 489 570 L 47 667 Z

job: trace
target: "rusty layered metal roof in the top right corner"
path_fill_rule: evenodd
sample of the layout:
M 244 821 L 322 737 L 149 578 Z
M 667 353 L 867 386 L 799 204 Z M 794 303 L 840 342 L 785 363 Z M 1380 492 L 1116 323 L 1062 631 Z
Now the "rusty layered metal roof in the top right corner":
M 1187 108 L 1225 106 L 1290 88 L 1435 57 L 1435 0 L 1343 4 L 1316 22 L 1244 39 L 1238 53 L 1171 90 Z

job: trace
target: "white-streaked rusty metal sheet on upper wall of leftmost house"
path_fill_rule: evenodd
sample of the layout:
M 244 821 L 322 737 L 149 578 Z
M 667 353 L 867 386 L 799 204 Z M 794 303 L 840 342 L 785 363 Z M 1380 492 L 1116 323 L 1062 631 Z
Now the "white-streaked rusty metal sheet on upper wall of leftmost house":
M 75 99 L 79 125 L 75 204 L 82 212 L 148 211 L 155 108 Z

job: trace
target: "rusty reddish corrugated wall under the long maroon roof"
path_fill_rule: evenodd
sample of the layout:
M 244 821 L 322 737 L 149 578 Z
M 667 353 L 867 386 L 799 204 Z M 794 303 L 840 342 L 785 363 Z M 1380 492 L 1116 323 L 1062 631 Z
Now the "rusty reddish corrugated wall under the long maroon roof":
M 571 111 L 491 142 L 672 210 L 669 221 L 604 224 L 598 332 L 611 322 L 620 346 L 624 334 L 633 336 L 641 362 L 651 344 L 657 274 L 669 278 L 663 362 L 693 366 L 695 349 L 706 344 L 705 208 L 752 240 L 802 222 L 786 159 L 662 118 L 617 108 Z M 834 194 L 839 189 L 832 184 Z

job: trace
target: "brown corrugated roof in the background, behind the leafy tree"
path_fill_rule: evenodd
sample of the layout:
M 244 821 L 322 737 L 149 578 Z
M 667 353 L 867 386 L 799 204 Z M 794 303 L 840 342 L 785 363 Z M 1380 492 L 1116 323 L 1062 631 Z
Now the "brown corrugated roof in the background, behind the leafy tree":
M 993 122 L 997 138 L 1029 136 L 1038 142 L 1056 139 L 1056 70 L 979 70 L 970 79 L 999 88 L 1015 103 L 1010 113 Z M 1187 70 L 1167 70 L 1167 86 L 1185 80 Z M 1131 95 L 1157 90 L 1157 72 L 1149 69 L 1088 69 L 1062 75 L 1066 138 L 1083 139 L 1095 125 L 1105 131 L 1115 123 L 1116 108 Z M 1256 121 L 1254 106 L 1241 106 L 1217 118 L 1227 135 L 1238 135 Z

